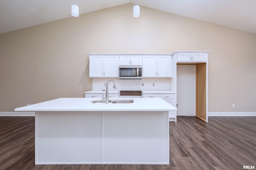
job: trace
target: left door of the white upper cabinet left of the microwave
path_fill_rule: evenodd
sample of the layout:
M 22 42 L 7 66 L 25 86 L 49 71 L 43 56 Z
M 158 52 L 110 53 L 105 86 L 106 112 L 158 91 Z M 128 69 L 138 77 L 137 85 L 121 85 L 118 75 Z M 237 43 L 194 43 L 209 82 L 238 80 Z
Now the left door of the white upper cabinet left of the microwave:
M 90 56 L 89 59 L 89 77 L 104 76 L 104 56 Z

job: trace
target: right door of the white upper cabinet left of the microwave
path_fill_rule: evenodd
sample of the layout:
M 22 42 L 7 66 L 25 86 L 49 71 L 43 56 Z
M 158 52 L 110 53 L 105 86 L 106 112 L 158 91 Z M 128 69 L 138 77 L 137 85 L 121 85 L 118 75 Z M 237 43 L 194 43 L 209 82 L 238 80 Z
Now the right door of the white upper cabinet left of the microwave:
M 118 56 L 105 56 L 104 70 L 105 77 L 118 77 Z

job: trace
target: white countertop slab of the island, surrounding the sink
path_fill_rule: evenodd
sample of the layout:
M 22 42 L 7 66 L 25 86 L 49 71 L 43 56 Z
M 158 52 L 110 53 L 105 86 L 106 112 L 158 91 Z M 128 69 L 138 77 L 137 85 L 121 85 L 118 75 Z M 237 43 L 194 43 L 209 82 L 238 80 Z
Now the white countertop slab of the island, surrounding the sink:
M 128 98 L 116 98 L 116 100 Z M 129 98 L 130 99 L 130 98 Z M 161 98 L 131 98 L 129 104 L 91 103 L 101 98 L 58 98 L 47 102 L 16 108 L 15 111 L 176 111 Z M 114 100 L 111 98 L 110 100 Z

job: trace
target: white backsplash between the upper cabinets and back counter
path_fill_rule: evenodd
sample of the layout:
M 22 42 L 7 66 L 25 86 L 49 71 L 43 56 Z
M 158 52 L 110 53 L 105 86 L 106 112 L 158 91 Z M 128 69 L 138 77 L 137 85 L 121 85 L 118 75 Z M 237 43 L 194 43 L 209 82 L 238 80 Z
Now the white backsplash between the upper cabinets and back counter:
M 92 90 L 106 90 L 106 83 L 110 78 L 92 78 Z M 142 79 L 119 79 L 111 78 L 116 82 L 116 90 L 146 90 L 146 91 L 171 91 L 172 78 L 142 78 Z M 142 86 L 144 83 L 144 86 Z M 153 86 L 153 83 L 155 86 Z M 109 90 L 114 90 L 113 82 L 109 83 Z

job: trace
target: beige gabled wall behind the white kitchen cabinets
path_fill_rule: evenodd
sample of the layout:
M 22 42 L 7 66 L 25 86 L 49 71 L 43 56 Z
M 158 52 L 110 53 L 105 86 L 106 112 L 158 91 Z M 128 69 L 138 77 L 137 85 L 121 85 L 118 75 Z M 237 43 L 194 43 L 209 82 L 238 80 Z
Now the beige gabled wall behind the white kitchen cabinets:
M 0 111 L 92 89 L 87 53 L 209 53 L 209 111 L 256 111 L 256 35 L 133 4 L 0 34 Z M 236 108 L 232 108 L 236 104 Z

